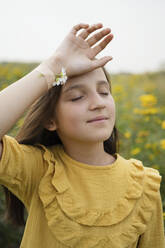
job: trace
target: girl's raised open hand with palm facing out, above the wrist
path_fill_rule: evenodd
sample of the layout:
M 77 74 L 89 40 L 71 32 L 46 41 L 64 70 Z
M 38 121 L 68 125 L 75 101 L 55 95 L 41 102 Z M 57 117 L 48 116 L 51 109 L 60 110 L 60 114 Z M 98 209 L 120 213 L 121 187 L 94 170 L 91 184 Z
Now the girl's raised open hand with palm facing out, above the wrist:
M 95 58 L 113 39 L 113 34 L 110 34 L 110 28 L 103 29 L 88 38 L 92 32 L 102 28 L 102 26 L 101 23 L 92 26 L 84 23 L 77 24 L 56 49 L 52 58 L 58 57 L 61 65 L 66 69 L 68 76 L 92 71 L 104 66 L 112 59 L 111 56 L 105 56 L 100 59 Z M 84 30 L 77 35 L 81 29 Z M 98 45 L 94 46 L 103 37 L 105 38 Z

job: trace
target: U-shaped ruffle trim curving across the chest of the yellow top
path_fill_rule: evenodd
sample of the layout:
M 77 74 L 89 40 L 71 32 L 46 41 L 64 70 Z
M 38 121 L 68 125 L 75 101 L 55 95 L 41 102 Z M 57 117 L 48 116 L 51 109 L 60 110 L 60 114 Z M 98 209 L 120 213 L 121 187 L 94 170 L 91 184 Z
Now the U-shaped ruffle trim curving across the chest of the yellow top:
M 55 162 L 53 154 L 48 149 L 42 147 L 45 150 L 44 160 L 48 169 L 40 182 L 39 196 L 48 226 L 56 239 L 66 247 L 72 248 L 84 248 L 86 243 L 88 248 L 102 248 L 108 245 L 118 248 L 119 244 L 120 247 L 133 244 L 137 235 L 145 231 L 152 216 L 161 181 L 159 172 L 152 168 L 145 170 L 141 161 L 125 160 L 117 154 L 123 162 L 127 161 L 130 168 L 126 194 L 119 199 L 113 209 L 84 210 L 75 208 L 70 185 L 62 166 Z M 135 213 L 131 215 L 132 211 Z M 132 219 L 127 228 L 124 228 L 124 232 L 121 228 L 114 234 L 112 225 L 115 226 L 130 215 Z

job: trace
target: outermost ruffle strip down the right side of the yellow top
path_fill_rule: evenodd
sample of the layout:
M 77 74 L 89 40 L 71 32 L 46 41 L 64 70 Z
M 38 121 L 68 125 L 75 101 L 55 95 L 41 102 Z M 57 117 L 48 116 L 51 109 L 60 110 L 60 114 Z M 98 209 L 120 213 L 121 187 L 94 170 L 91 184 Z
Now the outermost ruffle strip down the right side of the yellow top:
M 130 159 L 133 165 L 137 166 L 141 161 Z M 143 167 L 145 176 L 143 180 L 143 195 L 135 209 L 135 214 L 132 217 L 132 225 L 129 226 L 127 232 L 123 232 L 120 236 L 123 241 L 122 247 L 128 242 L 134 243 L 136 235 L 141 235 L 145 232 L 148 222 L 152 218 L 156 202 L 159 199 L 159 190 L 162 176 L 159 171 L 150 167 Z

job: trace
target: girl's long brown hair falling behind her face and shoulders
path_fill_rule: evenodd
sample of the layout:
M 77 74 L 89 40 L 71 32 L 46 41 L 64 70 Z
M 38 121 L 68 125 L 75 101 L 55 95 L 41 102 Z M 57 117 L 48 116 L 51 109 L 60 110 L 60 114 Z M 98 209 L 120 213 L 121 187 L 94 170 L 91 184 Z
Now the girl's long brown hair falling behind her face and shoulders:
M 102 67 L 107 81 L 111 88 L 110 75 L 104 67 Z M 19 129 L 15 139 L 19 144 L 33 145 L 40 143 L 45 146 L 62 144 L 56 131 L 47 130 L 44 125 L 55 115 L 55 108 L 62 86 L 53 87 L 40 98 L 38 98 L 30 107 L 25 116 L 24 123 Z M 114 126 L 111 136 L 104 141 L 104 150 L 113 155 L 119 151 L 118 131 Z M 25 225 L 25 207 L 23 203 L 3 186 L 6 198 L 5 219 L 11 221 L 14 225 Z

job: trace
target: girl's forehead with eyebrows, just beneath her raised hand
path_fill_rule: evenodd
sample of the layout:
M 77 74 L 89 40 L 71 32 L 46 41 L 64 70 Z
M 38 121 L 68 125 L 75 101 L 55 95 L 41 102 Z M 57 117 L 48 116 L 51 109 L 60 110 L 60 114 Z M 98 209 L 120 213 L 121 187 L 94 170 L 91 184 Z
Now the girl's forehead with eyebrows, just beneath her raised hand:
M 105 85 L 109 87 L 109 82 L 101 68 L 84 73 L 79 76 L 69 78 L 62 87 L 62 92 L 66 93 L 72 89 Z

